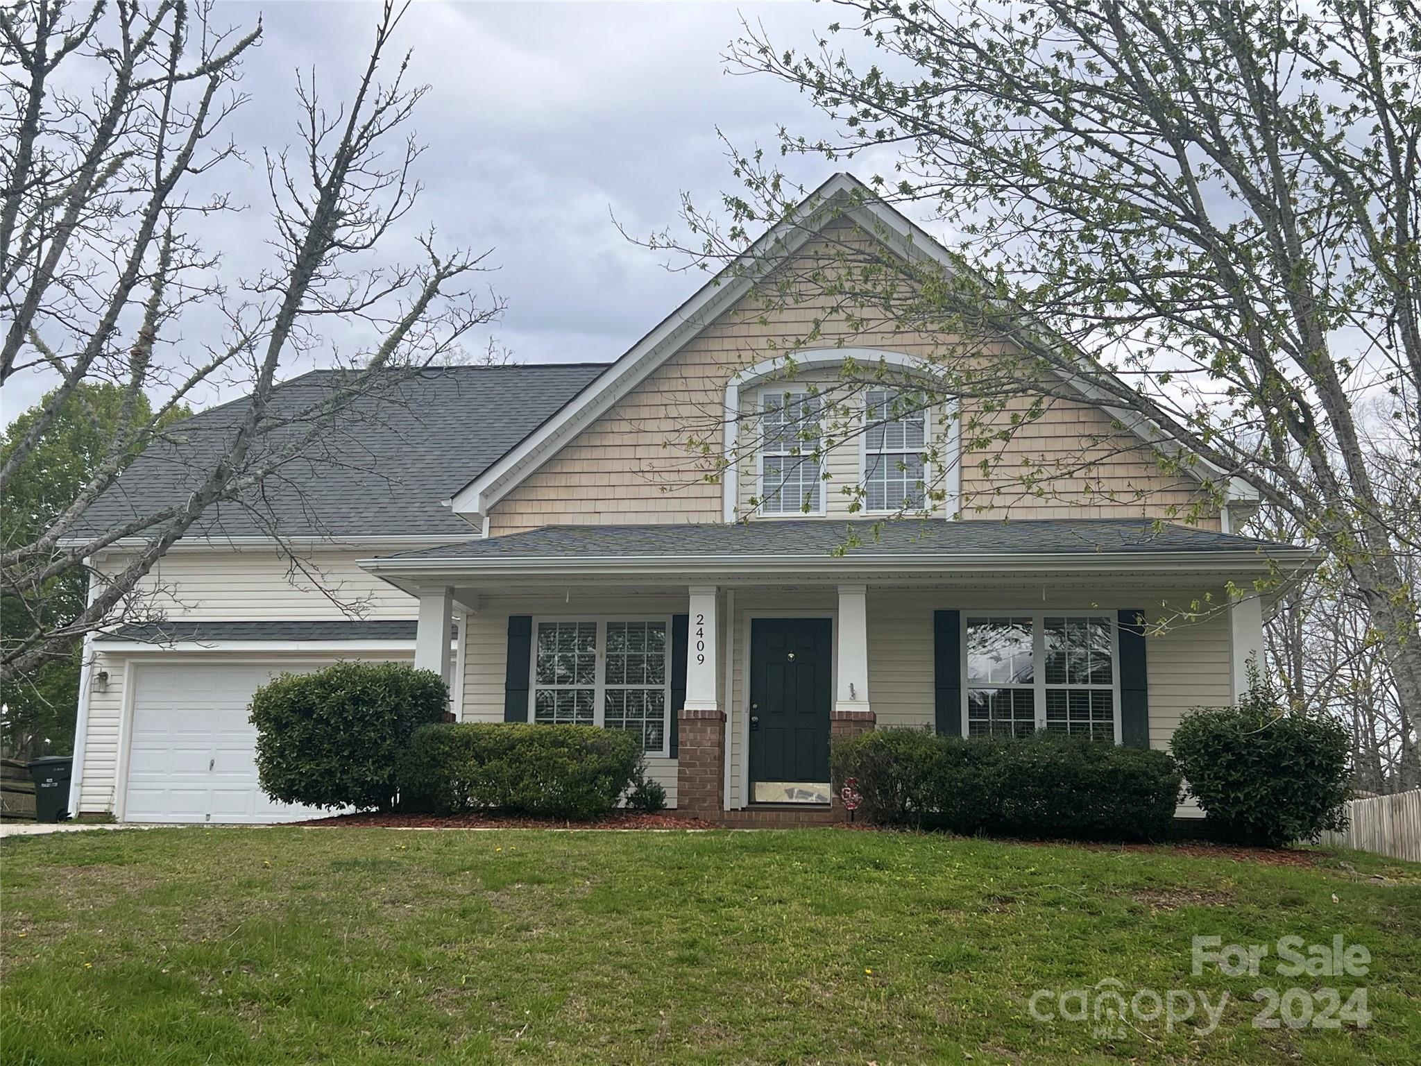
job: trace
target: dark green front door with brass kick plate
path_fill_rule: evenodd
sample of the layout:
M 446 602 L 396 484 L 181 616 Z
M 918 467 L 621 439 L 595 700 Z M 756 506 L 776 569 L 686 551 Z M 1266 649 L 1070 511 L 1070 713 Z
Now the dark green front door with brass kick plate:
M 750 620 L 750 797 L 828 803 L 828 618 Z

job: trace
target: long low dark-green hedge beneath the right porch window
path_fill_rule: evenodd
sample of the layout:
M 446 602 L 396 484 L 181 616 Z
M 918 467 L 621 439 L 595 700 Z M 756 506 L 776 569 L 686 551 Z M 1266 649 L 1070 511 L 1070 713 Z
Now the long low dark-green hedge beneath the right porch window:
M 833 746 L 836 787 L 888 826 L 1023 837 L 1158 840 L 1179 773 L 1164 752 L 1037 733 L 1029 739 L 878 729 Z

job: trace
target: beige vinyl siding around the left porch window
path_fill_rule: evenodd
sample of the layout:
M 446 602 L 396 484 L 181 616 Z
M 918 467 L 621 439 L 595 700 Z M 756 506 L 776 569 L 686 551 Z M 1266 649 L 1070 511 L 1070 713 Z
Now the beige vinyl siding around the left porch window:
M 507 672 L 509 615 L 544 618 L 662 618 L 685 614 L 685 596 L 571 596 L 486 597 L 469 615 L 463 669 L 463 721 L 503 721 L 503 681 Z M 531 664 L 529 664 L 531 669 Z M 676 804 L 676 760 L 648 758 L 647 775 L 666 789 L 668 806 Z

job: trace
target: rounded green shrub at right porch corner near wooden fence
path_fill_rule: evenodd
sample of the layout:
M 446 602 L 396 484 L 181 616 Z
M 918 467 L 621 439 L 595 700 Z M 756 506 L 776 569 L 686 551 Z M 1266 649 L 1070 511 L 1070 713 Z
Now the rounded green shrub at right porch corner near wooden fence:
M 1347 824 L 1346 728 L 1283 712 L 1266 685 L 1255 684 L 1238 706 L 1191 711 L 1169 746 L 1226 840 L 1282 847 Z

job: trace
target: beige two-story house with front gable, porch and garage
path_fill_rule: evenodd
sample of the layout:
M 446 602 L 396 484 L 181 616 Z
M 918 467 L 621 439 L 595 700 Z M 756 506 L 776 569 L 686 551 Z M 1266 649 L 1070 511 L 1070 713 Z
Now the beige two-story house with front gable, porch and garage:
M 814 202 L 890 250 L 941 254 L 863 193 L 838 175 Z M 783 254 L 810 237 L 786 235 Z M 1189 708 L 1239 695 L 1268 597 L 1226 590 L 1302 560 L 1232 532 L 1246 489 L 1191 512 L 1194 475 L 1164 473 L 1087 397 L 1053 399 L 979 463 L 932 388 L 941 338 L 824 316 L 806 345 L 814 308 L 766 311 L 755 284 L 726 271 L 605 365 L 431 371 L 401 387 L 406 418 L 357 431 L 361 462 L 311 459 L 215 509 L 145 583 L 166 621 L 88 644 L 71 809 L 310 816 L 261 795 L 247 701 L 340 658 L 441 672 L 462 721 L 630 729 L 678 810 L 728 822 L 824 810 L 840 733 L 1164 748 Z M 845 360 L 874 374 L 830 401 Z M 932 404 L 897 402 L 914 382 Z M 820 446 L 830 402 L 861 432 Z M 688 425 L 708 426 L 689 456 Z M 1053 449 L 1097 461 L 1052 492 L 993 492 Z M 173 459 L 139 458 L 95 520 L 179 492 Z M 119 544 L 92 563 L 122 560 Z

